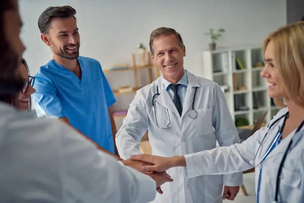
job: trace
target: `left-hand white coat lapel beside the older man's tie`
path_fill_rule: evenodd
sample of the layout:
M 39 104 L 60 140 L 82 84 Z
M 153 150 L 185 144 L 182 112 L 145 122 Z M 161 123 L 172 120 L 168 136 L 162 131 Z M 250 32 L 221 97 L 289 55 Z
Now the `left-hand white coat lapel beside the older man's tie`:
M 179 113 L 170 97 L 170 95 L 167 93 L 167 91 L 164 89 L 163 84 L 162 84 L 162 79 L 161 77 L 158 78 L 157 81 L 158 89 L 159 89 L 159 96 L 155 99 L 155 104 L 156 105 L 161 105 L 165 108 L 167 108 L 169 111 L 175 113 L 176 115 L 179 116 Z M 156 106 L 157 108 L 157 106 Z

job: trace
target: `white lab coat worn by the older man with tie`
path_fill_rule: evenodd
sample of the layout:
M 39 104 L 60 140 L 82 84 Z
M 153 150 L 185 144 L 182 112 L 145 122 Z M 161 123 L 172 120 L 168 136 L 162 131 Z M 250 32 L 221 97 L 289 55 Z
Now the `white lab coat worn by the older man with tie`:
M 196 77 L 189 72 L 187 75 L 189 82 L 181 116 L 164 90 L 161 77 L 137 91 L 116 134 L 116 145 L 122 158 L 141 154 L 139 143 L 147 130 L 152 154 L 164 157 L 213 149 L 216 141 L 221 146 L 240 142 L 221 88 L 210 80 Z M 155 99 L 157 120 L 159 126 L 167 123 L 167 108 L 171 123 L 167 129 L 160 129 L 155 125 L 152 97 L 156 94 L 156 85 L 160 93 Z M 192 119 L 188 116 L 188 111 L 192 109 L 195 87 L 198 89 L 194 109 L 198 116 Z M 241 173 L 187 179 L 183 167 L 171 168 L 167 172 L 174 181 L 161 187 L 163 194 L 156 194 L 155 203 L 222 203 L 223 184 L 242 184 Z

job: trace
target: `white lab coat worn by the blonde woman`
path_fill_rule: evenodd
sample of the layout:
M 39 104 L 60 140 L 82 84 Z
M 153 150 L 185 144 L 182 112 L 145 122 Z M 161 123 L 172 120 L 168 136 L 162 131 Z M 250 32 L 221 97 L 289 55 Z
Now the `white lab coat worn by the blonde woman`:
M 288 111 L 281 109 L 270 121 L 270 124 Z M 283 124 L 284 118 L 271 127 L 257 153 L 255 163 L 264 156 L 272 140 Z M 269 124 L 268 124 L 269 126 Z M 272 203 L 275 198 L 275 188 L 279 165 L 291 139 L 293 144 L 287 154 L 282 174 L 280 175 L 279 203 L 304 203 L 304 127 L 295 134 L 288 135 L 276 146 L 262 163 L 260 188 L 260 203 Z M 221 147 L 210 151 L 186 155 L 188 178 L 206 174 L 228 174 L 253 168 L 255 153 L 265 136 L 266 127 L 256 131 L 241 144 Z M 261 165 L 255 168 L 255 184 L 257 189 Z

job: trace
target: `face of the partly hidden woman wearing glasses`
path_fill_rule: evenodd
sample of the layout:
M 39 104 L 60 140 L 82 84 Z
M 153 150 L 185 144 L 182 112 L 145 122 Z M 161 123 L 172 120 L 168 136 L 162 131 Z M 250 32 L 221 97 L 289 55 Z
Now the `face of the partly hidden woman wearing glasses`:
M 35 93 L 35 89 L 32 87 L 34 78 L 29 76 L 29 69 L 27 63 L 22 59 L 22 63 L 19 66 L 21 77 L 24 80 L 24 87 L 18 94 L 18 105 L 20 110 L 31 110 L 31 95 Z

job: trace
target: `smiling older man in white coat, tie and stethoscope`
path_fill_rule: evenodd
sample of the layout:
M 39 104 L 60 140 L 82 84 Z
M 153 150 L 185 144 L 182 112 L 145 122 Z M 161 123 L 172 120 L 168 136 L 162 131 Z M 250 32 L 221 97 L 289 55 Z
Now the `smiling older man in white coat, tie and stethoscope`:
M 239 143 L 237 130 L 221 88 L 183 67 L 185 46 L 174 29 L 160 27 L 150 37 L 152 59 L 162 76 L 140 89 L 116 134 L 119 154 L 140 154 L 139 143 L 149 131 L 152 154 L 176 156 Z M 233 200 L 242 174 L 186 178 L 183 167 L 168 174 L 174 183 L 161 187 L 155 203 L 222 203 Z M 223 193 L 223 185 L 224 193 Z

